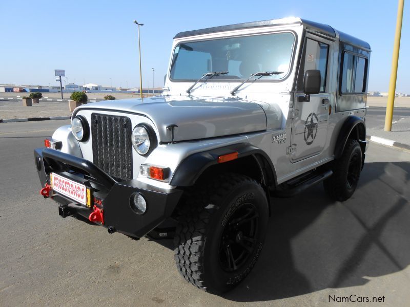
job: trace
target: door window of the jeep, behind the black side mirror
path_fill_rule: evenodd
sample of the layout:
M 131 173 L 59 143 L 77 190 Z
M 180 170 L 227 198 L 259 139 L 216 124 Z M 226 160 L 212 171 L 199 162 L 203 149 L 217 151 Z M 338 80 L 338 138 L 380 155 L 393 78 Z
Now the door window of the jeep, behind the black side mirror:
M 317 69 L 320 71 L 320 92 L 326 91 L 327 56 L 329 45 L 313 39 L 306 39 L 306 50 L 304 57 L 304 71 Z

